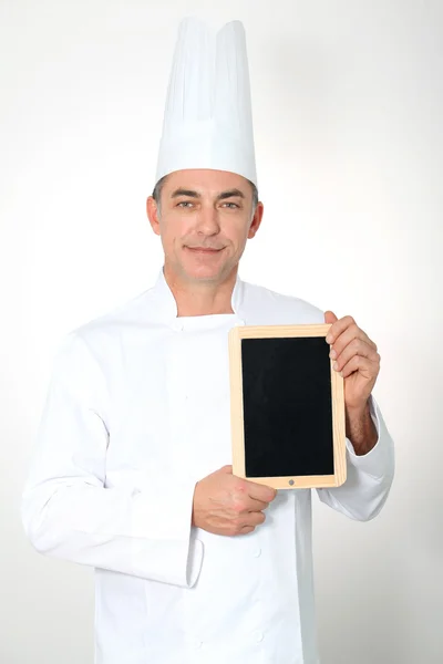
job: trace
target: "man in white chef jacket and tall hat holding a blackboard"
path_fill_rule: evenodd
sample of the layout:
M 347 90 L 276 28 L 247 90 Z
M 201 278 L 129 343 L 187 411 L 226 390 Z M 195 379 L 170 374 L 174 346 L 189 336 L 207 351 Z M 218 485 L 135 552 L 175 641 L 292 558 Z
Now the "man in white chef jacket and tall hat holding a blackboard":
M 377 516 L 393 443 L 372 396 L 380 355 L 356 321 L 239 278 L 264 212 L 241 23 L 213 34 L 182 22 L 155 181 L 147 216 L 164 264 L 152 288 L 63 340 L 27 535 L 95 568 L 96 664 L 318 664 L 311 491 L 233 475 L 229 330 L 331 323 L 348 479 L 318 489 L 321 501 Z

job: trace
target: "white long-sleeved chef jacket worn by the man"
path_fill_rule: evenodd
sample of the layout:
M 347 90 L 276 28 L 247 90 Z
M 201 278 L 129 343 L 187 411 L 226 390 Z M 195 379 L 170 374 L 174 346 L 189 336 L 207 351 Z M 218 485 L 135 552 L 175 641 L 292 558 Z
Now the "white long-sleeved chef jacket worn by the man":
M 279 491 L 250 535 L 190 525 L 195 484 L 231 464 L 228 331 L 324 322 L 239 277 L 231 307 L 177 318 L 161 270 L 56 354 L 22 516 L 38 551 L 95 568 L 96 664 L 318 664 L 310 489 Z M 358 520 L 394 469 L 372 397 L 371 416 L 375 447 L 347 440 L 346 484 L 317 490 Z

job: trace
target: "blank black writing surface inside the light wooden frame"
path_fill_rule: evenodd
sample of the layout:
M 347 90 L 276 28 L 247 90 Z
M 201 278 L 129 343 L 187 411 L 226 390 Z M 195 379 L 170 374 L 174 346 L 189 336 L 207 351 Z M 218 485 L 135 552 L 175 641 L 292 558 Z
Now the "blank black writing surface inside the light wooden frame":
M 247 477 L 333 475 L 324 338 L 243 339 Z

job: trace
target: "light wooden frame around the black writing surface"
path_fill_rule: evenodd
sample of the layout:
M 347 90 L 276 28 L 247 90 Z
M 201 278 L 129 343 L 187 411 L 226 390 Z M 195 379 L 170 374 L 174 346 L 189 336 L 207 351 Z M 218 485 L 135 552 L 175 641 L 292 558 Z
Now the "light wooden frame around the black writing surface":
M 244 429 L 244 396 L 241 341 L 246 339 L 270 338 L 306 338 L 324 336 L 330 324 L 313 325 L 246 325 L 236 326 L 229 331 L 229 370 L 230 370 L 230 414 L 233 442 L 233 474 L 250 481 L 267 485 L 276 489 L 338 487 L 346 481 L 346 418 L 343 378 L 332 369 L 331 405 L 332 405 L 332 442 L 333 442 L 333 475 L 287 476 L 287 477 L 251 477 L 245 475 L 245 429 Z

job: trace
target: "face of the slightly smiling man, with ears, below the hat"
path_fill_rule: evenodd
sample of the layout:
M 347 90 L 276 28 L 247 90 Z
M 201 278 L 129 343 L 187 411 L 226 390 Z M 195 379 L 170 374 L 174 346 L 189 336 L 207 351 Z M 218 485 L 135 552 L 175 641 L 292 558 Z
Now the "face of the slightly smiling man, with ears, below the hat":
M 262 217 L 253 217 L 249 181 L 226 170 L 186 169 L 167 176 L 159 210 L 147 199 L 153 230 L 162 238 L 165 269 L 184 281 L 222 282 L 237 266 Z

